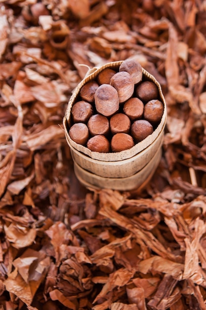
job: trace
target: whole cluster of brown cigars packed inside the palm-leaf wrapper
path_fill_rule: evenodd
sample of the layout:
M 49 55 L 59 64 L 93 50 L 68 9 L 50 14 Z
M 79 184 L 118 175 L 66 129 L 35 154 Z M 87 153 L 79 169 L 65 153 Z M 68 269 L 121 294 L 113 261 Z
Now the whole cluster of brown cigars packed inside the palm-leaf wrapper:
M 126 59 L 84 84 L 71 109 L 70 138 L 93 152 L 121 152 L 151 135 L 164 112 L 157 85 Z

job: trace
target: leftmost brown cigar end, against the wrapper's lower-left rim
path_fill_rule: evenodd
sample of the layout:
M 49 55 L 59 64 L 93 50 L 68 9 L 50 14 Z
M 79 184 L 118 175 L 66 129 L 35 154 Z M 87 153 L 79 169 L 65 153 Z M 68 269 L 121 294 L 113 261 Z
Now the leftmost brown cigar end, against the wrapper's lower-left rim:
M 89 138 L 89 130 L 84 123 L 76 123 L 70 128 L 69 136 L 74 142 L 85 145 Z

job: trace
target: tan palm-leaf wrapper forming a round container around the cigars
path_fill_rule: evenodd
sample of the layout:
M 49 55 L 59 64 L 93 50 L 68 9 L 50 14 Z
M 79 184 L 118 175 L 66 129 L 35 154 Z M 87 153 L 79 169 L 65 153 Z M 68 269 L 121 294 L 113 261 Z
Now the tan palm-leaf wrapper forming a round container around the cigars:
M 152 81 L 157 85 L 160 100 L 164 104 L 164 113 L 160 124 L 151 135 L 129 150 L 117 153 L 98 153 L 77 144 L 68 134 L 72 125 L 71 108 L 78 100 L 82 86 L 91 80 L 95 80 L 97 75 L 105 68 L 111 68 L 118 72 L 122 62 L 110 62 L 90 70 L 74 90 L 63 119 L 66 140 L 74 160 L 75 174 L 87 188 L 110 188 L 120 191 L 142 188 L 153 176 L 162 156 L 166 122 L 165 98 L 159 82 L 145 69 L 142 69 L 142 79 Z

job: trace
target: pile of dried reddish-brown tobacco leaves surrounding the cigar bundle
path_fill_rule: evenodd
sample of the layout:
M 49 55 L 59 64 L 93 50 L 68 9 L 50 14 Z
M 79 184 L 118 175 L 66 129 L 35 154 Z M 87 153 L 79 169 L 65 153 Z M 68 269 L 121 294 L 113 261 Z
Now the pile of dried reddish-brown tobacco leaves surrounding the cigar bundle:
M 0 0 L 0 310 L 206 309 L 206 1 Z M 141 192 L 84 189 L 62 118 L 88 67 L 161 83 Z

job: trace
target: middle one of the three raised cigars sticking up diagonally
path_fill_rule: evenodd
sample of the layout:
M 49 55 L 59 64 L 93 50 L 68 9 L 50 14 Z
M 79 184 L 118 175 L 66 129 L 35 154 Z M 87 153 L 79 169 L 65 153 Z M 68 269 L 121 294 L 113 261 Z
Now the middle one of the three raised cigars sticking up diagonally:
M 120 103 L 128 100 L 134 92 L 134 81 L 128 72 L 118 72 L 111 78 L 112 85 L 118 92 Z

